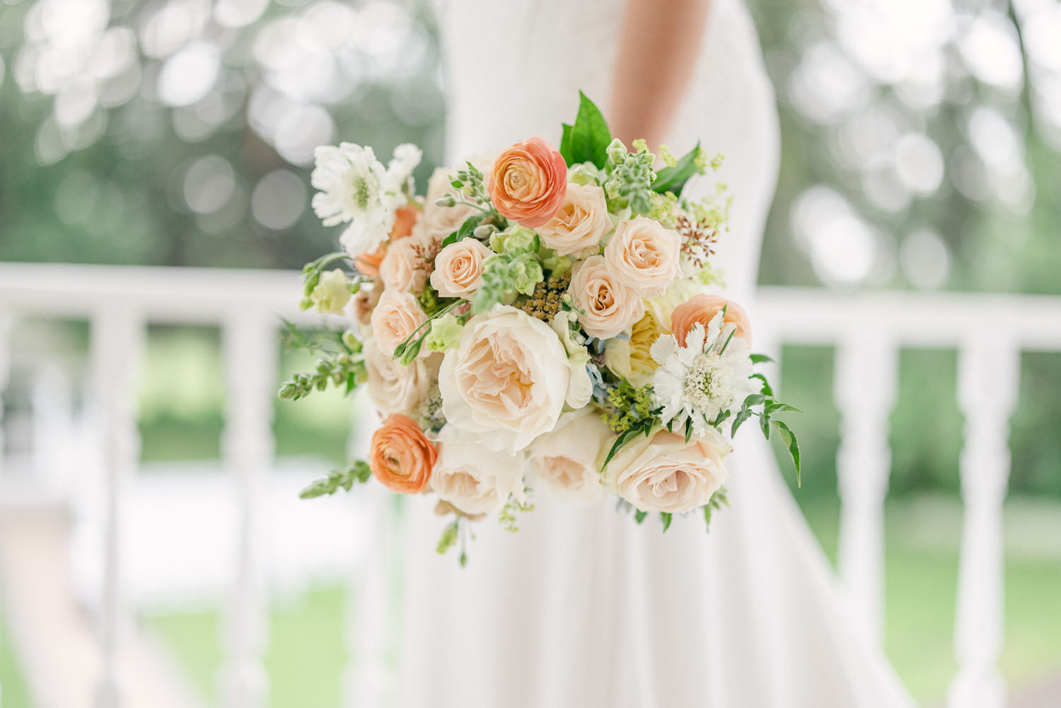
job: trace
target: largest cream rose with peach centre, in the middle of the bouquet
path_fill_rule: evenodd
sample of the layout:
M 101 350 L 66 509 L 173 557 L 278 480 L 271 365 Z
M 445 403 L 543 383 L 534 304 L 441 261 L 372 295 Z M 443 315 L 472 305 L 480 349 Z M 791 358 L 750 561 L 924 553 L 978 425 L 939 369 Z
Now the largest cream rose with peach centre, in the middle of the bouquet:
M 489 433 L 482 445 L 516 452 L 556 425 L 568 378 L 568 356 L 549 325 L 495 305 L 465 325 L 438 387 L 450 425 Z

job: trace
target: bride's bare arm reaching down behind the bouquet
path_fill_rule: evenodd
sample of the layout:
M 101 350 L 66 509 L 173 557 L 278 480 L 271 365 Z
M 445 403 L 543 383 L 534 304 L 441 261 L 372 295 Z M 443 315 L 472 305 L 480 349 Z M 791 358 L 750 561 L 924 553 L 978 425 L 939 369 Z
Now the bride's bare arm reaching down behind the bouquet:
M 627 145 L 663 140 L 700 53 L 711 0 L 627 0 L 608 122 Z

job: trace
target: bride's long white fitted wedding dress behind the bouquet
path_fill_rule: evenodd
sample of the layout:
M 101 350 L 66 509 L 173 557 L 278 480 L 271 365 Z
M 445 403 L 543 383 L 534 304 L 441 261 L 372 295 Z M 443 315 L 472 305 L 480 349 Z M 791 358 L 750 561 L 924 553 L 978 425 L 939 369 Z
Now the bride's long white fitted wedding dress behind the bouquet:
M 440 8 L 448 157 L 532 135 L 556 143 L 581 89 L 605 109 L 623 0 L 451 0 Z M 667 144 L 721 152 L 735 195 L 716 263 L 753 294 L 779 160 L 773 93 L 740 0 L 712 0 Z M 708 186 L 706 186 L 707 188 Z M 751 308 L 753 310 L 753 308 Z M 752 314 L 754 322 L 754 315 Z M 798 402 L 798 401 L 797 401 Z M 413 500 L 400 704 L 405 708 L 908 708 L 854 629 L 832 571 L 758 430 L 730 457 L 732 508 L 664 535 L 613 503 L 539 496 L 511 534 L 474 524 L 468 567 L 435 553 L 448 519 Z M 814 474 L 814 470 L 805 470 Z

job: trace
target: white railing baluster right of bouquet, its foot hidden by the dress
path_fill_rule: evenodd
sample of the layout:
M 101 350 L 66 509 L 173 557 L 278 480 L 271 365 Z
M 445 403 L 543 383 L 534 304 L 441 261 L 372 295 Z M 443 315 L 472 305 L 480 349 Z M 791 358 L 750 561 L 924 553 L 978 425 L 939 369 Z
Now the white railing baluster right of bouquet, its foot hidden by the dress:
M 891 472 L 888 416 L 895 401 L 897 356 L 893 339 L 870 326 L 850 332 L 836 350 L 837 565 L 856 617 L 874 644 L 883 639 L 884 500 Z

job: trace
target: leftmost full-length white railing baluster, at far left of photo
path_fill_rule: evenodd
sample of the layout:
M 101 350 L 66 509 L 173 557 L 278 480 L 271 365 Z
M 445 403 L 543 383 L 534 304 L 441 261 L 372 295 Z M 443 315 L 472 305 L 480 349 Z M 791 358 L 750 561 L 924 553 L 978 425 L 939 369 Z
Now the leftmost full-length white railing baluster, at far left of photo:
M 99 708 L 123 705 L 121 650 L 132 626 L 125 603 L 121 557 L 122 497 L 136 471 L 140 437 L 136 418 L 136 372 L 143 343 L 143 322 L 121 303 L 102 306 L 91 321 L 91 372 L 101 426 L 103 501 L 103 588 L 100 597 L 100 644 L 103 672 L 97 690 Z

